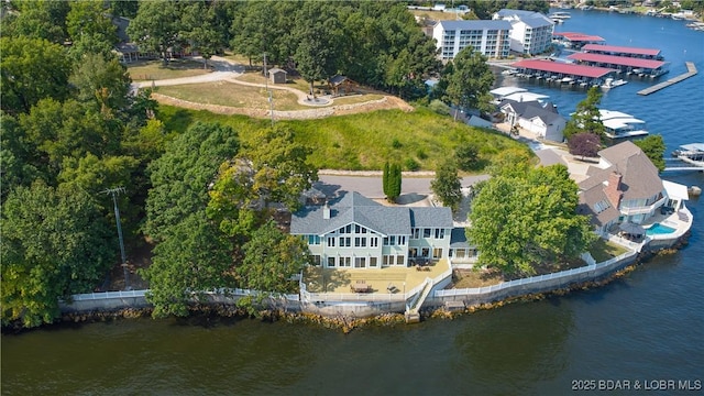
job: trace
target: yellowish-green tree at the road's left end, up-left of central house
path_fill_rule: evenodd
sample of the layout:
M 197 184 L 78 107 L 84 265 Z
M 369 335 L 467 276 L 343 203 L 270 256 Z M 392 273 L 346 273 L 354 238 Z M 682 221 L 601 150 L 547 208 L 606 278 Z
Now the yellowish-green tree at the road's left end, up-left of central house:
M 318 170 L 308 162 L 311 153 L 312 148 L 296 142 L 289 128 L 276 125 L 260 131 L 239 157 L 251 164 L 256 200 L 265 208 L 270 202 L 280 202 L 295 210 L 300 194 L 318 179 Z

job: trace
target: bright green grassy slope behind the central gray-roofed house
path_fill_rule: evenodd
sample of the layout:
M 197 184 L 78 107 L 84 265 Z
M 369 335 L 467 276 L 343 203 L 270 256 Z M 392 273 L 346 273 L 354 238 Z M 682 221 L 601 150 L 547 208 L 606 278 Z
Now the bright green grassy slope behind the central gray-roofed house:
M 184 132 L 195 121 L 220 122 L 238 131 L 244 143 L 270 123 L 245 116 L 213 114 L 163 105 L 160 119 L 176 132 Z M 413 112 L 378 110 L 318 120 L 277 121 L 277 124 L 289 127 L 300 143 L 314 147 L 310 162 L 318 168 L 378 170 L 386 161 L 404 165 L 407 160 L 414 160 L 421 169 L 435 169 L 463 142 L 475 144 L 485 164 L 512 147 L 525 150 L 532 156 L 528 146 L 510 138 L 454 122 L 449 116 L 422 107 Z

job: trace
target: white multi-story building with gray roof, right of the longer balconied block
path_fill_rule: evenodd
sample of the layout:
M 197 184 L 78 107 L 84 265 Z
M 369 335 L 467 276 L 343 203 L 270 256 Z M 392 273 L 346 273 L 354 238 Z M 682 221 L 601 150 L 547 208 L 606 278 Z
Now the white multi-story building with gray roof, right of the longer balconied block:
M 550 47 L 554 22 L 540 12 L 502 9 L 494 20 L 510 22 L 510 50 L 519 54 L 537 55 Z

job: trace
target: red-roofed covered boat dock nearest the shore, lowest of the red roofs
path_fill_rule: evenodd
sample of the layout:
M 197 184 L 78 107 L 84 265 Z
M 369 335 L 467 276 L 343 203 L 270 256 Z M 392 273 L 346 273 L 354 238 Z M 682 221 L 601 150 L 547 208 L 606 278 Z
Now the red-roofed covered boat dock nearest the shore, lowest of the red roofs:
M 604 79 L 616 74 L 616 69 L 606 67 L 593 67 L 585 65 L 564 64 L 541 59 L 524 59 L 512 64 L 512 67 L 520 70 L 519 76 L 544 78 L 547 81 L 561 81 L 601 86 Z

